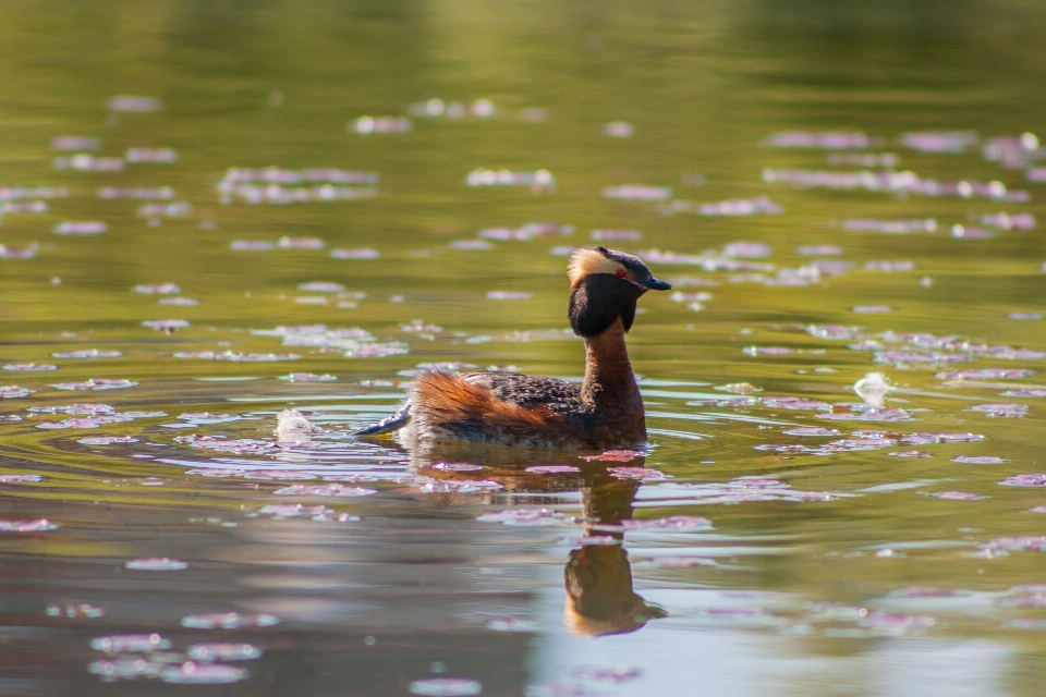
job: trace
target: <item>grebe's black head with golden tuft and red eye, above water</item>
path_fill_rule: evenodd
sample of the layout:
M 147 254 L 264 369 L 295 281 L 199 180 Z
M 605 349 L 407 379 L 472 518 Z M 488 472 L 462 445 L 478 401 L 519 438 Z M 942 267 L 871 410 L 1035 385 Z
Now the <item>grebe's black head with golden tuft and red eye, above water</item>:
M 647 291 L 671 285 L 650 274 L 631 254 L 596 247 L 577 249 L 567 267 L 570 278 L 570 326 L 582 337 L 597 337 L 620 318 L 624 331 L 635 319 L 635 302 Z

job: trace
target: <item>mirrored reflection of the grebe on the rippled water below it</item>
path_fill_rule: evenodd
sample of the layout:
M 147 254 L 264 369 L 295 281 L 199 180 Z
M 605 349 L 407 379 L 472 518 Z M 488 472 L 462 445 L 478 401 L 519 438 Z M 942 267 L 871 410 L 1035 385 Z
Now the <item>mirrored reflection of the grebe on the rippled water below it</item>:
M 611 476 L 608 466 L 624 463 L 585 462 L 576 451 L 528 451 L 520 448 L 454 444 L 411 452 L 418 474 L 439 479 L 497 481 L 507 490 L 520 492 L 580 491 L 584 512 L 581 547 L 571 550 L 563 570 L 567 602 L 563 624 L 581 636 L 605 636 L 635 632 L 650 620 L 665 617 L 661 608 L 647 603 L 632 588 L 632 565 L 625 551 L 625 523 L 632 519 L 635 493 L 641 484 Z M 439 462 L 483 465 L 479 472 L 447 472 L 435 468 Z M 577 473 L 535 475 L 533 465 L 570 463 Z M 627 463 L 643 467 L 645 457 Z M 533 503 L 533 500 L 530 501 Z

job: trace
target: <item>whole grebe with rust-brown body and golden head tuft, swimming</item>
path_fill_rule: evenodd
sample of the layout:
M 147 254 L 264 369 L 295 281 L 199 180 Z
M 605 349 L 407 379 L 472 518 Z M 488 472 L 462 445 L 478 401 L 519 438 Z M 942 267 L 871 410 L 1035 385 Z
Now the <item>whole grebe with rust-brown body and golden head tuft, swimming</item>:
M 646 440 L 643 400 L 624 334 L 647 291 L 672 286 L 638 257 L 596 247 L 577 249 L 568 265 L 568 315 L 585 340 L 585 379 L 575 384 L 513 372 L 455 375 L 429 370 L 411 384 L 393 416 L 356 431 L 402 428 L 408 442 L 441 440 L 504 445 L 609 448 Z

